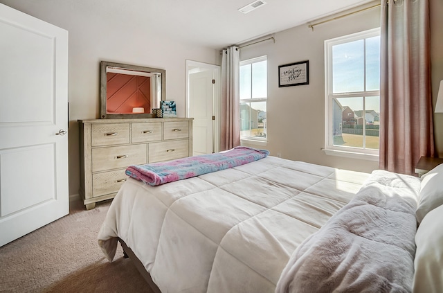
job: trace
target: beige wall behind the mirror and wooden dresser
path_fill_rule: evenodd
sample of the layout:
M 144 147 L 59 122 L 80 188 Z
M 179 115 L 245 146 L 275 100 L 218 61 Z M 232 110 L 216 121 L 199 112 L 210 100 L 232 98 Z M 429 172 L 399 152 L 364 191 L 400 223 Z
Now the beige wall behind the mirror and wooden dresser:
M 181 44 L 157 35 L 155 25 L 138 15 L 143 13 L 143 7 L 134 12 L 125 10 L 122 4 L 116 15 L 105 15 L 98 2 L 103 3 L 0 0 L 0 3 L 69 31 L 70 195 L 78 194 L 80 186 L 77 120 L 99 118 L 101 60 L 165 69 L 166 98 L 177 101 L 177 115 L 181 117 L 185 116 L 186 60 L 219 62 L 218 50 Z

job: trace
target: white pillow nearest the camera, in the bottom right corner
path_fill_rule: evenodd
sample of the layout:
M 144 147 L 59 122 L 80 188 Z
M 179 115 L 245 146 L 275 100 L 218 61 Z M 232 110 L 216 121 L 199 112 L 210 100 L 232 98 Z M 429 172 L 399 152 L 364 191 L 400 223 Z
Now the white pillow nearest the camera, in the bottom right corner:
M 443 206 L 424 217 L 415 234 L 413 292 L 443 292 Z

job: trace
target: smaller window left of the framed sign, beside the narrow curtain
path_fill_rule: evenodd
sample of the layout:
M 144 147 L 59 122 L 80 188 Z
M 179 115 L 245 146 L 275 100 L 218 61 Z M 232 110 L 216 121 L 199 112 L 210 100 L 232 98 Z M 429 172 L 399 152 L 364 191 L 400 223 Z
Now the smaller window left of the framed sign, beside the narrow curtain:
M 240 62 L 240 139 L 266 141 L 266 56 Z

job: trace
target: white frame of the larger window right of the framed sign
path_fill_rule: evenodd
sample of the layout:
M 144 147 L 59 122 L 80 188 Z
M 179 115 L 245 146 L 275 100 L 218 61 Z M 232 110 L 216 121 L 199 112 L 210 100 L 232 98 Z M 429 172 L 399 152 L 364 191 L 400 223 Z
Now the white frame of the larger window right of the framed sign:
M 368 159 L 370 161 L 379 161 L 379 150 L 358 148 L 350 146 L 334 145 L 334 113 L 333 100 L 336 98 L 363 98 L 363 113 L 365 113 L 365 98 L 378 96 L 380 99 L 380 90 L 358 91 L 352 93 L 333 93 L 332 80 L 332 47 L 338 44 L 354 42 L 360 39 L 368 39 L 380 35 L 380 28 L 372 28 L 351 35 L 344 35 L 334 39 L 325 40 L 325 148 L 326 154 L 337 155 L 341 157 L 350 157 L 355 159 Z M 365 59 L 366 61 L 366 59 Z M 364 62 L 364 66 L 366 62 Z M 364 70 L 364 82 L 366 83 L 366 70 Z M 366 85 L 365 85 L 366 88 Z M 365 130 L 365 124 L 363 124 Z M 365 143 L 365 131 L 363 131 L 363 146 Z

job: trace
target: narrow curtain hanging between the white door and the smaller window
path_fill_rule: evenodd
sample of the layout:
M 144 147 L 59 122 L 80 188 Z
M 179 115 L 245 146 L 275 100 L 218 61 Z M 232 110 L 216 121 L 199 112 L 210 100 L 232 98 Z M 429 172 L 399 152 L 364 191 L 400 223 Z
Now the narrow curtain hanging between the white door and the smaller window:
M 222 54 L 220 150 L 229 150 L 240 145 L 240 50 L 231 46 Z

